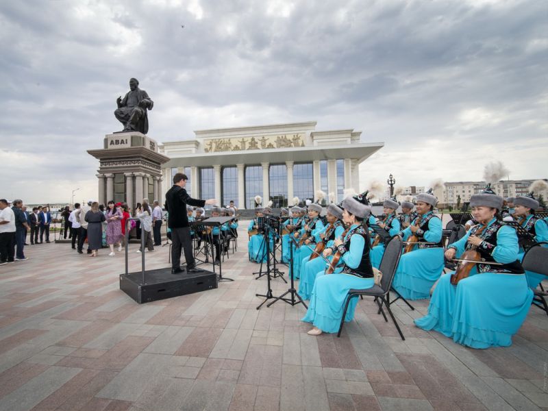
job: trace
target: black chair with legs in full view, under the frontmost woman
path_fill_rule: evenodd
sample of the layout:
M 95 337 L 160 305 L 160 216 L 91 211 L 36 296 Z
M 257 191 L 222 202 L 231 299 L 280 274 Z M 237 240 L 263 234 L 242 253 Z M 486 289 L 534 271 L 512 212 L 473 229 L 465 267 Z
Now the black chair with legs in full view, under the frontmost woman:
M 406 339 L 401 333 L 401 329 L 399 329 L 399 325 L 394 317 L 394 314 L 392 314 L 392 310 L 390 310 L 390 289 L 392 288 L 392 282 L 399 263 L 399 258 L 401 257 L 402 249 L 403 244 L 400 236 L 394 236 L 386 245 L 384 255 L 382 256 L 381 264 L 379 266 L 379 270 L 382 273 L 380 286 L 375 284 L 373 287 L 364 288 L 363 290 L 349 290 L 345 303 L 345 310 L 343 311 L 343 318 L 340 320 L 340 327 L 337 334 L 338 337 L 340 337 L 340 332 L 343 330 L 343 324 L 345 323 L 345 316 L 347 315 L 350 300 L 354 297 L 358 297 L 358 295 L 370 295 L 371 297 L 375 297 L 375 302 L 379 306 L 379 311 L 382 312 L 384 321 L 388 323 L 386 314 L 384 314 L 384 310 L 382 309 L 382 305 L 386 305 L 386 310 L 388 310 L 388 314 L 390 314 L 390 317 L 399 332 L 399 336 L 401 336 L 402 340 Z

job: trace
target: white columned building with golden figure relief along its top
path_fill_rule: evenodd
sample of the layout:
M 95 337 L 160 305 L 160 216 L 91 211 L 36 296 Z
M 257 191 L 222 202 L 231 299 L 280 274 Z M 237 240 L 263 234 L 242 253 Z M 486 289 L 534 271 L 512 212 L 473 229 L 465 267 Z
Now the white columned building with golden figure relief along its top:
M 188 176 L 191 197 L 216 198 L 223 205 L 253 208 L 260 195 L 266 204 L 288 206 L 293 197 L 314 199 L 317 190 L 358 189 L 358 166 L 384 146 L 361 142 L 353 129 L 316 131 L 316 122 L 209 129 L 189 140 L 164 142 L 159 152 L 171 158 L 162 167 L 162 192 L 172 177 Z

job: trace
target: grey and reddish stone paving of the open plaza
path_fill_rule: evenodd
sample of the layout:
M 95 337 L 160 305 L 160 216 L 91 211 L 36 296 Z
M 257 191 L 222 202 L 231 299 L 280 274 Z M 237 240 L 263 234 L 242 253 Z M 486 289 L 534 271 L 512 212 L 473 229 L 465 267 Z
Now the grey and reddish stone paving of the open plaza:
M 27 247 L 28 261 L 0 267 L 0 411 L 548 410 L 541 310 L 508 348 L 414 327 L 427 301 L 394 307 L 405 341 L 371 298 L 341 338 L 308 336 L 303 306 L 256 310 L 266 279 L 252 275 L 245 229 L 239 239 L 223 263 L 234 282 L 143 305 L 119 290 L 124 253 Z M 168 249 L 145 254 L 147 268 L 168 266 Z M 275 295 L 287 288 L 273 281 Z

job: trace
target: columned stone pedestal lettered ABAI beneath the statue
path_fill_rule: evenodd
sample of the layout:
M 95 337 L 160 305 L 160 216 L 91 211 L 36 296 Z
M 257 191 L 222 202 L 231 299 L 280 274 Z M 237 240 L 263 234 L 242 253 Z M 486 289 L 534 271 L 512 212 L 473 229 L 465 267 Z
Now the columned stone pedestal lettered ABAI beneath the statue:
M 139 132 L 107 134 L 103 149 L 88 150 L 99 160 L 99 203 L 127 203 L 132 210 L 142 199 L 162 200 L 162 164 L 158 143 Z

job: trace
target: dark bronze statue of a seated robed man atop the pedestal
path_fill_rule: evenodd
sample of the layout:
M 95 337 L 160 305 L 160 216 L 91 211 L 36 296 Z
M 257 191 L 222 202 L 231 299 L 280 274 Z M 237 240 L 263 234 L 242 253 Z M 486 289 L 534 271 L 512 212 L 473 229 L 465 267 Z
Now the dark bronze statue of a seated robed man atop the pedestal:
M 129 92 L 116 99 L 118 108 L 114 110 L 114 116 L 124 125 L 124 129 L 119 132 L 140 132 L 147 134 L 149 132 L 149 119 L 147 110 L 152 110 L 154 102 L 150 99 L 145 90 L 138 88 L 137 79 L 129 79 Z

